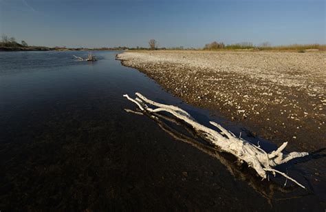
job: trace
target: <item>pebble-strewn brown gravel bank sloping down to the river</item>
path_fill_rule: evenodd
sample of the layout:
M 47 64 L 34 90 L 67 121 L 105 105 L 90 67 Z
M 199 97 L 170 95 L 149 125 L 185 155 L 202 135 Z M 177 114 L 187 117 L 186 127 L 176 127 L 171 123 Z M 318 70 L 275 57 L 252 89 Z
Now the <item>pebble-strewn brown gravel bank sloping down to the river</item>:
M 325 146 L 325 52 L 153 51 L 118 54 L 186 103 L 219 112 L 289 149 Z

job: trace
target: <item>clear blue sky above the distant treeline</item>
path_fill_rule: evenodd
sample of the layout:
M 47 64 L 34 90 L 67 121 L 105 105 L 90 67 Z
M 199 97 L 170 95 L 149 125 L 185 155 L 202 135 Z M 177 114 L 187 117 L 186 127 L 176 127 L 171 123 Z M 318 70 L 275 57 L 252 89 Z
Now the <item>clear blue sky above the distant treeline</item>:
M 0 0 L 0 34 L 30 45 L 326 43 L 325 0 Z

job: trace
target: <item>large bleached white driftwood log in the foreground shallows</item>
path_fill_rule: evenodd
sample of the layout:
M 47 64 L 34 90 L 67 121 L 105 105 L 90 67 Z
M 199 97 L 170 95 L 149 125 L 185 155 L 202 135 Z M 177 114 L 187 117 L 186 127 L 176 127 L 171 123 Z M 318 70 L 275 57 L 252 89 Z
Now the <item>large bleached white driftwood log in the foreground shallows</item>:
M 206 140 L 211 142 L 213 145 L 219 147 L 222 151 L 232 153 L 232 155 L 237 157 L 239 161 L 246 162 L 249 167 L 252 167 L 252 169 L 257 171 L 258 175 L 261 176 L 261 178 L 267 178 L 268 172 L 271 172 L 274 175 L 275 173 L 280 173 L 285 178 L 292 180 L 292 182 L 305 189 L 302 184 L 293 178 L 290 178 L 290 176 L 287 176 L 285 173 L 273 169 L 273 167 L 281 165 L 294 158 L 307 156 L 307 152 L 294 151 L 290 153 L 282 153 L 283 149 L 285 149 L 287 145 L 287 142 L 284 142 L 281 147 L 276 149 L 276 151 L 267 153 L 259 146 L 253 145 L 252 143 L 242 138 L 237 138 L 234 134 L 232 134 L 232 132 L 224 129 L 224 127 L 221 127 L 221 125 L 213 121 L 210 121 L 210 124 L 217 127 L 220 132 L 197 123 L 197 121 L 191 117 L 190 114 L 185 112 L 183 109 L 180 109 L 179 107 L 156 103 L 155 101 L 149 100 L 148 98 L 142 96 L 140 93 L 135 93 L 135 95 L 138 96 L 138 98 L 130 98 L 127 94 L 124 94 L 123 96 L 138 105 L 142 111 L 149 113 L 169 112 L 176 118 L 184 120 L 184 122 L 188 123 L 188 125 L 191 125 L 195 131 L 198 131 L 200 134 L 204 135 L 204 138 L 206 138 Z M 146 103 L 154 105 L 157 108 L 152 109 L 151 107 L 148 107 Z

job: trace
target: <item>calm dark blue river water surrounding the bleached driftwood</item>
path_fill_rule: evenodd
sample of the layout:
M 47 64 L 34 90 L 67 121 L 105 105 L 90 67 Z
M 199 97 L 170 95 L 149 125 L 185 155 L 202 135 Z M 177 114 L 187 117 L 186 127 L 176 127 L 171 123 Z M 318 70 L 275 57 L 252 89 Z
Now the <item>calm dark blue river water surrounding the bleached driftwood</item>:
M 0 52 L 0 211 L 323 211 L 325 202 L 284 179 L 266 182 L 183 127 L 130 114 L 140 92 L 217 120 L 120 65 L 118 52 Z M 274 148 L 265 143 L 266 148 Z M 300 165 L 288 173 L 313 187 Z

